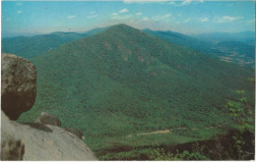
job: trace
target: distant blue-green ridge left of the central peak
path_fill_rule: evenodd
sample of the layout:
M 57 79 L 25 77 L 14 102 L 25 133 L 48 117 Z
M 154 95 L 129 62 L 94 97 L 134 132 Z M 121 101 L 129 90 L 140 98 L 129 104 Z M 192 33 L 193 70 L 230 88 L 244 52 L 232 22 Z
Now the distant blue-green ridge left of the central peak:
M 87 36 L 85 33 L 58 31 L 50 34 L 4 38 L 2 40 L 2 52 L 13 53 L 30 59 L 85 36 Z

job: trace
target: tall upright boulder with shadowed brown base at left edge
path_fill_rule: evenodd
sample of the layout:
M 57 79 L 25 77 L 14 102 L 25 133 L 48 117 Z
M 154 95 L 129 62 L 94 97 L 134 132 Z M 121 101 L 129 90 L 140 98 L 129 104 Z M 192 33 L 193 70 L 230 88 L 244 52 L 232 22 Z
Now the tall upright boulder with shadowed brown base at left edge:
M 35 67 L 16 55 L 2 53 L 1 57 L 1 107 L 11 120 L 17 120 L 35 101 Z

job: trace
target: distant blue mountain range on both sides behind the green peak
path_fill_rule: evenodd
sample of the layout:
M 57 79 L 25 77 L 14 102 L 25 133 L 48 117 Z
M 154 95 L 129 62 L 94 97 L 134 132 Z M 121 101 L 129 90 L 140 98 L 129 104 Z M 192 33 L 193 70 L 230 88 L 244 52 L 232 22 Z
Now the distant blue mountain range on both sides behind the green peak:
M 107 28 L 96 27 L 87 32 L 80 33 L 52 32 L 50 34 L 4 38 L 2 40 L 2 51 L 14 53 L 25 58 L 32 58 L 55 47 L 82 37 L 94 35 Z M 252 31 L 237 33 L 215 32 L 193 35 L 196 38 L 170 30 L 161 31 L 146 28 L 143 31 L 170 43 L 198 50 L 225 62 L 254 68 L 255 38 L 253 37 L 254 32 Z

